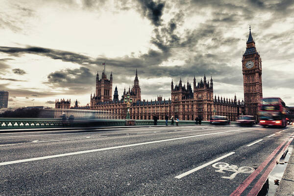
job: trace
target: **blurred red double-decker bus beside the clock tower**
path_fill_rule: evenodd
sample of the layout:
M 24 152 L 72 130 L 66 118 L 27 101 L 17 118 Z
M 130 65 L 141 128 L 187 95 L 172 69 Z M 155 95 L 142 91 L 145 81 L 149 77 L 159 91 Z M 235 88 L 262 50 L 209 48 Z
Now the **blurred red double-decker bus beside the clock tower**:
M 259 104 L 259 124 L 285 127 L 286 111 L 286 104 L 281 98 L 263 98 Z

